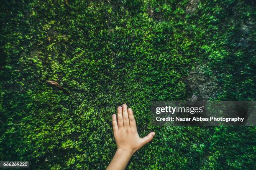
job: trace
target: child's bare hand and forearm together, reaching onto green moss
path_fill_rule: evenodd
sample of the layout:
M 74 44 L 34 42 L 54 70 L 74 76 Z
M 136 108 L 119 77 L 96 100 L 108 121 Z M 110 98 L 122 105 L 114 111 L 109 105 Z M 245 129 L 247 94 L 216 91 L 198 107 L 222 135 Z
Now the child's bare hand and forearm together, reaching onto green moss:
M 149 143 L 155 133 L 151 132 L 144 138 L 138 135 L 133 110 L 123 104 L 118 107 L 117 115 L 112 115 L 112 124 L 117 150 L 107 170 L 124 170 L 132 155 Z

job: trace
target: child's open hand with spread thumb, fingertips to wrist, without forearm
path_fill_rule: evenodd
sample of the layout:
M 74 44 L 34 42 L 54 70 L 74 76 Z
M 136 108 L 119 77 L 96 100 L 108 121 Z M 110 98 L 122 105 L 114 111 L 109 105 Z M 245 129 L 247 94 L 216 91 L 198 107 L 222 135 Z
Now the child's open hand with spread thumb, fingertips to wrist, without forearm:
M 143 145 L 150 142 L 155 135 L 154 132 L 151 132 L 144 138 L 139 137 L 133 110 L 131 108 L 127 110 L 127 105 L 125 104 L 123 104 L 123 107 L 118 107 L 118 114 L 117 116 L 115 114 L 112 116 L 112 121 L 118 150 L 133 154 Z

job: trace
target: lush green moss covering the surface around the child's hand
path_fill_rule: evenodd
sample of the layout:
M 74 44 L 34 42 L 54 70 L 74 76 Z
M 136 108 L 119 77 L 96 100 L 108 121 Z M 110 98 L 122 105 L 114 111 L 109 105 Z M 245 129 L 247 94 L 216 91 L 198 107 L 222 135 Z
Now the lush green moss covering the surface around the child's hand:
M 150 102 L 255 100 L 254 1 L 6 0 L 0 9 L 0 160 L 104 169 L 116 149 L 111 115 L 126 103 L 141 136 L 156 132 L 128 169 L 253 169 L 255 127 L 156 127 Z M 198 85 L 214 84 L 204 92 L 191 77 L 200 66 Z

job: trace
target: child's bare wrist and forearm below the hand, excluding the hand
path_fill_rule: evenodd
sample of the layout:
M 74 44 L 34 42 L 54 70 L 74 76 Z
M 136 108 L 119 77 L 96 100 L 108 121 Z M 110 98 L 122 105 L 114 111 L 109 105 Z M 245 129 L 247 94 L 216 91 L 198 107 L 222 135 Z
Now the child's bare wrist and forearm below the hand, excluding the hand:
M 118 149 L 106 170 L 124 170 L 133 153 L 128 150 Z

